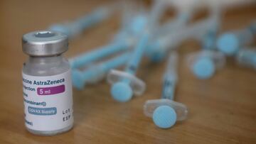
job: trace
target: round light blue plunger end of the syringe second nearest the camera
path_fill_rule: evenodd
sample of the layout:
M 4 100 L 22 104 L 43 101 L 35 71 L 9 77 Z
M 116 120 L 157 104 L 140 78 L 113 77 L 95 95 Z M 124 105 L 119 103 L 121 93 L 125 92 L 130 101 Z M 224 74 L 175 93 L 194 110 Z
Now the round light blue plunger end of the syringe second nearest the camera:
M 116 101 L 127 102 L 132 99 L 132 88 L 127 83 L 117 82 L 112 85 L 111 94 Z

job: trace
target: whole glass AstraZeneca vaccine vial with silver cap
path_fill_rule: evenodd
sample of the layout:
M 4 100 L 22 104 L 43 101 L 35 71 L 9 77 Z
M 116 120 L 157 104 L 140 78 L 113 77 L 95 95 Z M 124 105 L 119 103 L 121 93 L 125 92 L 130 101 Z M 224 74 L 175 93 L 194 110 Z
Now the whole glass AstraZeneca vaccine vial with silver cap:
M 29 55 L 23 64 L 25 126 L 36 135 L 56 135 L 73 128 L 71 71 L 63 52 L 68 37 L 55 31 L 34 31 L 22 38 Z

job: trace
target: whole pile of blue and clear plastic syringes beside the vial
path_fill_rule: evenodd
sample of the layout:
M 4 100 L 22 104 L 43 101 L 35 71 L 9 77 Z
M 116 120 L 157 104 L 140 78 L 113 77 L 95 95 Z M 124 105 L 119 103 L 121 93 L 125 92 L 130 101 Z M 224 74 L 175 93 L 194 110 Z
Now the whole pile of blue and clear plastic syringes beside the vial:
M 162 79 L 162 96 L 146 101 L 144 114 L 159 128 L 171 128 L 188 115 L 186 105 L 174 101 L 178 82 L 176 50 L 184 41 L 196 39 L 201 43 L 201 50 L 186 55 L 188 67 L 198 79 L 213 77 L 224 67 L 226 57 L 235 57 L 240 65 L 256 69 L 256 48 L 248 46 L 255 40 L 256 21 L 247 28 L 219 34 L 223 12 L 220 5 L 208 4 L 207 18 L 191 22 L 197 9 L 196 0 L 186 6 L 174 1 L 152 0 L 150 9 L 134 1 L 102 6 L 75 21 L 50 26 L 49 30 L 65 33 L 73 40 L 112 13 L 122 10 L 121 28 L 110 43 L 69 59 L 73 87 L 82 90 L 86 84 L 96 84 L 106 78 L 111 84 L 112 98 L 127 102 L 133 96 L 143 95 L 146 90 L 144 81 L 137 77 L 142 59 L 148 57 L 151 62 L 168 60 Z M 174 18 L 161 23 L 161 16 L 170 8 L 176 9 Z

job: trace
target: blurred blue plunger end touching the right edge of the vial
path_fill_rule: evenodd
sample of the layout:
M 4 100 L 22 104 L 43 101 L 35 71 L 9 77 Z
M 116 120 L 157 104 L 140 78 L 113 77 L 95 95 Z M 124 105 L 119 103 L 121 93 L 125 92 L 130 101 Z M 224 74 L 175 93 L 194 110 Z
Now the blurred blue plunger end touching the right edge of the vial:
M 72 70 L 72 84 L 76 89 L 82 90 L 85 83 L 82 80 L 82 74 L 79 70 Z

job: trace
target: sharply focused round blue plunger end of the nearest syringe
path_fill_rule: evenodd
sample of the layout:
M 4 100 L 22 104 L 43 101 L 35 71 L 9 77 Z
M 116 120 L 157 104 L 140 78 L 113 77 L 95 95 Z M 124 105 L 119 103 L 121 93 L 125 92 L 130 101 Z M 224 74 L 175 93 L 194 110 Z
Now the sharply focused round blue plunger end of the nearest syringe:
M 159 128 L 171 128 L 176 123 L 177 115 L 170 106 L 159 106 L 154 110 L 152 118 Z

